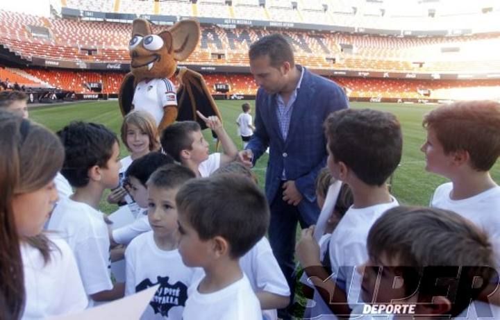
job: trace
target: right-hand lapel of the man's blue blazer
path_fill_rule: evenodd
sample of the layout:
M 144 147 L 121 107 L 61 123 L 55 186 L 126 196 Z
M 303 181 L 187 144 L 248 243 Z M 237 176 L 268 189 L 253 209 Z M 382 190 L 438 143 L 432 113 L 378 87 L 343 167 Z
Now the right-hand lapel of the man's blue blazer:
M 312 112 L 313 106 L 310 106 L 311 101 L 313 101 L 313 95 L 315 92 L 315 85 L 311 81 L 310 73 L 307 69 L 304 70 L 304 75 L 302 78 L 301 86 L 297 92 L 297 99 L 295 99 L 292 118 L 290 119 L 290 127 L 288 128 L 288 135 L 285 141 L 285 146 L 290 142 L 292 135 L 295 133 L 297 128 L 302 128 L 300 122 L 303 119 L 303 115 L 306 111 Z

